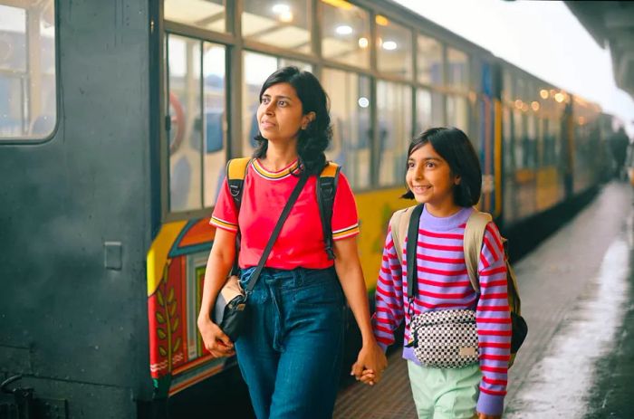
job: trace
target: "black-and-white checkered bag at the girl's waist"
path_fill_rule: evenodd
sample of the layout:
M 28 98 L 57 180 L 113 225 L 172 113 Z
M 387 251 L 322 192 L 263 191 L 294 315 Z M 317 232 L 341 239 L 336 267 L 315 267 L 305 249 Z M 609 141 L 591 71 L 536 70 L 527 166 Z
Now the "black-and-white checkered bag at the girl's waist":
M 434 368 L 460 368 L 478 362 L 476 311 L 445 309 L 417 314 L 409 324 L 414 354 Z

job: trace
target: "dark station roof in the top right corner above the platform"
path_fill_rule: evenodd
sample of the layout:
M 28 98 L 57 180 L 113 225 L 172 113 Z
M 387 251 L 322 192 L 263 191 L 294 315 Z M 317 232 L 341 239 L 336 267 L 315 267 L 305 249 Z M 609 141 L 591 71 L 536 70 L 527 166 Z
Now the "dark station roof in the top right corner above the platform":
M 634 98 L 634 2 L 564 2 L 601 48 L 609 48 L 614 80 Z

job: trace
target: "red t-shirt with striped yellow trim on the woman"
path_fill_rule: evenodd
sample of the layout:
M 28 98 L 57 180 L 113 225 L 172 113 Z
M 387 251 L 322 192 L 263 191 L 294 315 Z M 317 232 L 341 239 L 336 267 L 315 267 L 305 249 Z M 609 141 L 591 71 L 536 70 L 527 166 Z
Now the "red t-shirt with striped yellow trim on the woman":
M 279 172 L 269 172 L 257 159 L 247 167 L 239 217 L 229 185 L 223 183 L 210 224 L 229 232 L 242 232 L 241 268 L 256 266 L 282 214 L 293 187 L 299 182 L 291 172 L 297 161 Z M 325 252 L 322 218 L 315 192 L 317 177 L 311 176 L 283 224 L 265 266 L 291 270 L 297 267 L 324 269 L 332 266 Z M 332 207 L 332 238 L 341 240 L 359 234 L 359 216 L 346 176 L 339 175 Z

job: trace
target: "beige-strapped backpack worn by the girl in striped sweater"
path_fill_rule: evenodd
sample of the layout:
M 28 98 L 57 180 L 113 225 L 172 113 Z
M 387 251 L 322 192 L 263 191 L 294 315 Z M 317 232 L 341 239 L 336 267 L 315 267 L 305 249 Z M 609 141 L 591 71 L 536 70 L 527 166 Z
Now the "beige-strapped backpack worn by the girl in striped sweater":
M 392 232 L 392 241 L 397 252 L 399 262 L 403 263 L 403 248 L 402 243 L 405 236 L 408 234 L 408 226 L 410 223 L 418 223 L 418 220 L 411 219 L 411 214 L 414 208 L 418 205 L 410 206 L 408 208 L 397 211 L 392 215 L 389 220 L 389 226 Z M 482 240 L 485 237 L 486 224 L 489 224 L 493 218 L 491 214 L 481 213 L 474 210 L 473 214 L 469 216 L 466 221 L 465 238 L 463 241 L 463 249 L 465 252 L 466 270 L 469 272 L 469 281 L 471 286 L 476 292 L 480 292 L 480 282 L 477 277 L 477 264 L 480 260 L 480 251 L 482 249 Z M 526 320 L 522 317 L 522 301 L 520 300 L 519 290 L 517 288 L 517 279 L 515 278 L 515 271 L 511 264 L 508 262 L 508 254 L 506 252 L 506 239 L 502 237 L 502 243 L 504 247 L 504 262 L 506 264 L 506 281 L 507 281 L 507 294 L 508 305 L 511 312 L 511 358 L 509 360 L 509 367 L 513 366 L 517 351 L 524 343 L 526 334 L 528 333 L 528 326 Z

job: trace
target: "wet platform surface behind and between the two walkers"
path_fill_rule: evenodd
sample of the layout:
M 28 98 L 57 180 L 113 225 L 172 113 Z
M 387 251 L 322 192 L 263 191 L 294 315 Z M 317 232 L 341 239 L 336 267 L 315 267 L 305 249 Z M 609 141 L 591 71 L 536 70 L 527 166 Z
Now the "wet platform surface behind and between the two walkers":
M 629 184 L 603 186 L 514 263 L 529 334 L 509 373 L 504 418 L 634 418 L 633 199 Z M 333 417 L 416 418 L 400 350 L 379 385 L 342 390 Z

